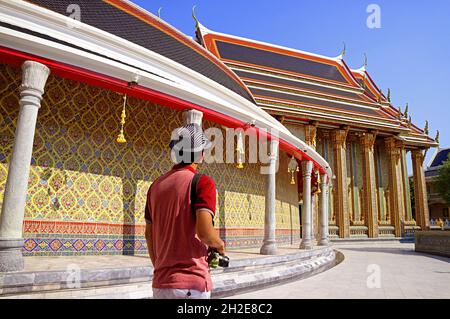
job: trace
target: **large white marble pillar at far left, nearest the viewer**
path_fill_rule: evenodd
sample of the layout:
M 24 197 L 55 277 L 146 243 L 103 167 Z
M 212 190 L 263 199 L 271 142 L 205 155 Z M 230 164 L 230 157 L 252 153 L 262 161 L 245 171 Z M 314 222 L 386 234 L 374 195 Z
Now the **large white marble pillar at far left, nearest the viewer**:
M 22 224 L 34 132 L 45 83 L 50 74 L 49 68 L 33 61 L 26 61 L 22 72 L 19 118 L 0 218 L 0 272 L 23 269 Z

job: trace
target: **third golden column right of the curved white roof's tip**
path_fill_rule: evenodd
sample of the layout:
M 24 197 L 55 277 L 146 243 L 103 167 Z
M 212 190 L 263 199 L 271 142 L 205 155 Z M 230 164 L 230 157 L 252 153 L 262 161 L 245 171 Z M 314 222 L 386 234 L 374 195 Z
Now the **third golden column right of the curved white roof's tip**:
M 395 228 L 395 236 L 402 236 L 402 222 L 404 220 L 403 208 L 403 176 L 401 167 L 401 142 L 394 137 L 385 139 L 389 162 L 389 209 L 391 223 Z

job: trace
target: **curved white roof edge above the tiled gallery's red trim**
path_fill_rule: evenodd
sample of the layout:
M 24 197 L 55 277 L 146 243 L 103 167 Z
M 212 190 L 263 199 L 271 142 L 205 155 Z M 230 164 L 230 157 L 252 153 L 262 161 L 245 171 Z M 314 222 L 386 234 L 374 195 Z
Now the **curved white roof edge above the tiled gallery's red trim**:
M 306 153 L 330 178 L 333 176 L 329 164 L 322 156 L 267 112 L 184 65 L 90 25 L 19 0 L 0 3 L 0 21 L 86 48 L 102 56 L 0 27 L 2 46 L 127 82 L 139 75 L 139 84 L 143 87 L 183 99 L 244 123 L 255 122 L 257 128 L 269 132 L 272 129 L 277 130 L 281 140 L 297 148 L 300 153 Z

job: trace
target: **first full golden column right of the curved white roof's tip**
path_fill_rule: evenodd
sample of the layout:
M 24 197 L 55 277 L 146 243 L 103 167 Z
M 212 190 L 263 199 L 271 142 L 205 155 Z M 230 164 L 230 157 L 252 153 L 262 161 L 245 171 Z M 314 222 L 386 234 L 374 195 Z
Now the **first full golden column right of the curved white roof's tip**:
M 348 129 L 332 131 L 333 153 L 335 163 L 336 181 L 334 183 L 334 211 L 339 227 L 339 237 L 350 237 L 350 220 L 348 216 L 347 193 L 347 159 L 346 139 Z

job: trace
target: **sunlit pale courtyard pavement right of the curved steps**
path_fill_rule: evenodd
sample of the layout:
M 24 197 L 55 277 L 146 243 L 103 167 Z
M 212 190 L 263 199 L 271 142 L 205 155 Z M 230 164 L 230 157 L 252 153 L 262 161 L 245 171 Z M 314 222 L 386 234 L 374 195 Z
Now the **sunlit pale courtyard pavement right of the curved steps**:
M 339 243 L 334 248 L 345 259 L 330 270 L 230 298 L 450 298 L 450 258 L 416 253 L 411 243 Z

